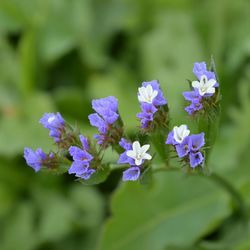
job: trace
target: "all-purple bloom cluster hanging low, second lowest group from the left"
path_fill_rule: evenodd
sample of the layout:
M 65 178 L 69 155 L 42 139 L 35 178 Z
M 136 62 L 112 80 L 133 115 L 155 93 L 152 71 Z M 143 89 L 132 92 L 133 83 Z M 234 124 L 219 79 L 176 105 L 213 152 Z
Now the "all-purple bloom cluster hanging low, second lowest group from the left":
M 96 171 L 90 167 L 93 156 L 88 152 L 90 150 L 89 142 L 83 135 L 79 136 L 82 147 L 71 146 L 69 153 L 73 158 L 73 163 L 69 168 L 69 174 L 75 174 L 76 177 L 82 179 L 89 179 L 91 175 Z

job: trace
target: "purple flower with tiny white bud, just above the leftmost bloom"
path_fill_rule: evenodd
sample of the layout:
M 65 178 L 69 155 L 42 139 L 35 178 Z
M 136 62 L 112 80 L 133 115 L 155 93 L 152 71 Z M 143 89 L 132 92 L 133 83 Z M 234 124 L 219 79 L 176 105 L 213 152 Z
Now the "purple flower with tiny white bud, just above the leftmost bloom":
M 65 122 L 59 112 L 45 113 L 39 121 L 45 128 L 50 130 L 49 135 L 54 138 L 55 142 L 61 140 L 62 133 L 64 132 Z

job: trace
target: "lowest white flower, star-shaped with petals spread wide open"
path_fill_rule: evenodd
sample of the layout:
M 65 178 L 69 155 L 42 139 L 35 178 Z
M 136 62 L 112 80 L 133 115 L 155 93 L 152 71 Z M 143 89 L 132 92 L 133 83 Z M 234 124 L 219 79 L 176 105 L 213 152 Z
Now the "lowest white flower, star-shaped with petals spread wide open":
M 149 148 L 149 144 L 141 147 L 140 143 L 138 141 L 135 141 L 133 143 L 133 150 L 128 150 L 126 154 L 128 157 L 131 157 L 135 160 L 135 165 L 140 166 L 143 160 L 152 159 L 152 156 L 146 153 Z

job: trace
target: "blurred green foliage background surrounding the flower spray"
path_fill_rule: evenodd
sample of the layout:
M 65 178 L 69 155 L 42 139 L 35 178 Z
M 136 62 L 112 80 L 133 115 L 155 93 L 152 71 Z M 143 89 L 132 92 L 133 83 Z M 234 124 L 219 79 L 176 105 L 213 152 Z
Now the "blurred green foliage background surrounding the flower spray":
M 25 146 L 53 148 L 38 124 L 44 112 L 60 111 L 92 135 L 91 99 L 107 95 L 119 99 L 133 134 L 137 88 L 152 79 L 171 122 L 191 124 L 181 93 L 193 63 L 213 55 L 223 100 L 209 165 L 240 192 L 249 214 L 249 28 L 248 0 L 1 0 L 0 249 L 250 249 L 235 204 L 204 178 L 157 174 L 148 190 L 120 184 L 114 171 L 89 187 L 35 174 L 22 157 Z

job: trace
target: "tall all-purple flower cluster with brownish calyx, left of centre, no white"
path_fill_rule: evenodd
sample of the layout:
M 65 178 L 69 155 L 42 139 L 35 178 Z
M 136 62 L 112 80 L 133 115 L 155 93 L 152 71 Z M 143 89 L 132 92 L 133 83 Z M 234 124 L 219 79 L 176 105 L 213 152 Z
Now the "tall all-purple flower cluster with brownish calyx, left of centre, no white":
M 98 128 L 99 134 L 94 138 L 104 148 L 118 142 L 123 130 L 118 122 L 118 101 L 115 97 L 109 96 L 92 101 L 92 108 L 96 111 L 89 115 L 90 124 Z

